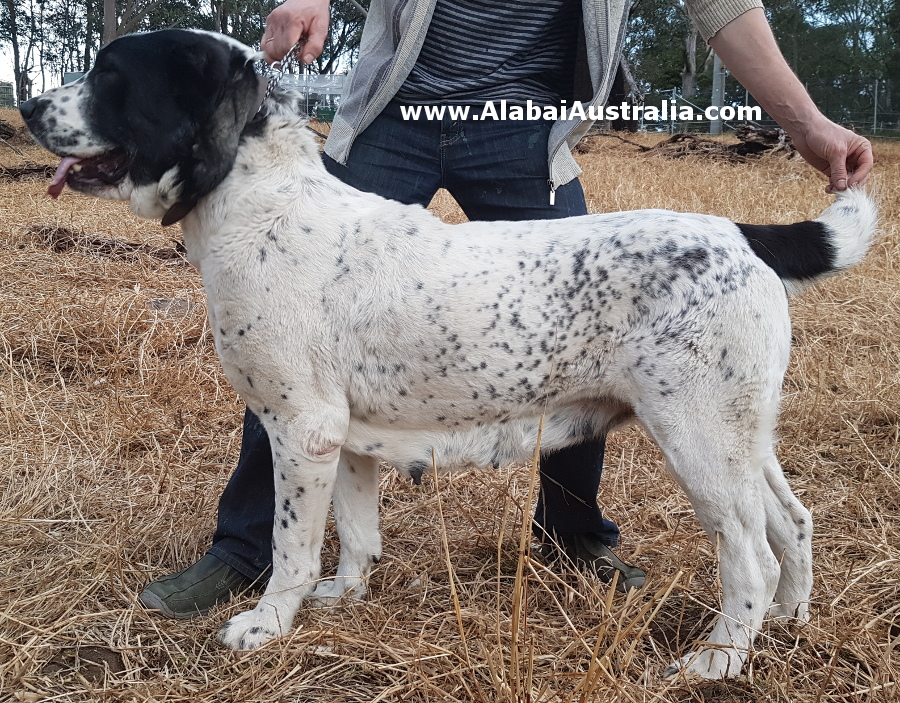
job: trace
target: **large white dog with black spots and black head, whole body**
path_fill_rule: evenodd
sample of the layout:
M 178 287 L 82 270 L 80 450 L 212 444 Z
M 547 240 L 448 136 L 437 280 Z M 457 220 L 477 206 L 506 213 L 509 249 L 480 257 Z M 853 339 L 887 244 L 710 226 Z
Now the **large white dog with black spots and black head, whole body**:
M 767 611 L 806 620 L 812 520 L 773 451 L 785 289 L 863 257 L 867 196 L 785 226 L 664 210 L 447 225 L 330 176 L 298 96 L 264 97 L 254 59 L 210 33 L 132 35 L 22 106 L 63 157 L 51 192 L 182 221 L 222 367 L 271 438 L 272 576 L 221 640 L 259 647 L 304 598 L 364 594 L 380 460 L 416 480 L 432 455 L 525 461 L 542 417 L 546 450 L 640 422 L 717 546 L 721 614 L 666 673 L 736 675 Z M 321 581 L 332 502 L 340 563 Z

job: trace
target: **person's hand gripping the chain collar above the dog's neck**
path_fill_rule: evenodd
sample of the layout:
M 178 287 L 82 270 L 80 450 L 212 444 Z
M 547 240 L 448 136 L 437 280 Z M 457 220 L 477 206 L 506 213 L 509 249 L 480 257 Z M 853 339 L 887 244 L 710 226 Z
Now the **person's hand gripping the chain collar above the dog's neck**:
M 312 63 L 322 53 L 328 34 L 328 0 L 287 0 L 266 18 L 262 50 L 266 61 L 281 61 L 301 39 L 303 63 Z

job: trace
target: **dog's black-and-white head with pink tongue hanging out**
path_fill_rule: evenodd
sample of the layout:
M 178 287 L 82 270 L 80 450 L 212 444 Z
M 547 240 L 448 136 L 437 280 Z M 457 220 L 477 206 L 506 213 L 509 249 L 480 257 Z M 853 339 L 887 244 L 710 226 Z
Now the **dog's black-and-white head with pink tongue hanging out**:
M 133 34 L 97 54 L 81 80 L 21 106 L 35 139 L 63 157 L 49 193 L 68 184 L 130 200 L 171 224 L 231 170 L 265 80 L 252 49 L 211 32 Z

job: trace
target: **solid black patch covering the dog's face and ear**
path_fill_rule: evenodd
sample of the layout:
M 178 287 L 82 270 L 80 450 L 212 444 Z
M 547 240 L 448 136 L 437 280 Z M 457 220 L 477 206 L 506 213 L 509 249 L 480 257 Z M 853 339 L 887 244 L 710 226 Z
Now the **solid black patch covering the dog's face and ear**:
M 87 122 L 128 155 L 134 187 L 166 178 L 163 224 L 222 182 L 265 89 L 248 47 L 187 30 L 117 39 L 97 54 L 85 82 Z

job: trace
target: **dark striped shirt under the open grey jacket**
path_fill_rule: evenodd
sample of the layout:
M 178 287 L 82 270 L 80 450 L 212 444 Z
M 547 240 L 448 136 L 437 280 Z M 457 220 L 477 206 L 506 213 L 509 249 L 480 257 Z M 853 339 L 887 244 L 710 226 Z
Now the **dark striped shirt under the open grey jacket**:
M 572 92 L 580 0 L 437 0 L 407 103 L 558 105 Z

